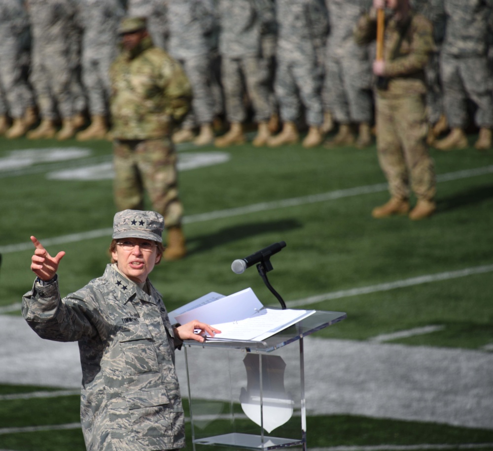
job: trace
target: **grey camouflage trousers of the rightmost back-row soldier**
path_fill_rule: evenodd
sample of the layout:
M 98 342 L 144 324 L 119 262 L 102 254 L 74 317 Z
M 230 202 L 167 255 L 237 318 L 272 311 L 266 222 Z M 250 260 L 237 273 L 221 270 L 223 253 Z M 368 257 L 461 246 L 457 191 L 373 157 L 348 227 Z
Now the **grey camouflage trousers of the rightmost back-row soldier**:
M 442 53 L 440 60 L 443 107 L 451 127 L 467 125 L 467 98 L 476 105 L 474 123 L 493 128 L 492 80 L 485 56 L 453 57 Z

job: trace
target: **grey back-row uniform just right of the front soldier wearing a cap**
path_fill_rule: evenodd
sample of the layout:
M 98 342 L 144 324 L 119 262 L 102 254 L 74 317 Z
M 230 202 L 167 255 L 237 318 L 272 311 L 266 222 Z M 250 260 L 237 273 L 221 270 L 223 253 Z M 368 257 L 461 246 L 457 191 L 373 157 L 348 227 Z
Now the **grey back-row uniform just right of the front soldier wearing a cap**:
M 211 92 L 210 41 L 214 15 L 212 0 L 173 0 L 168 5 L 168 51 L 185 69 L 193 90 L 192 109 L 184 128 L 211 123 L 214 100 Z

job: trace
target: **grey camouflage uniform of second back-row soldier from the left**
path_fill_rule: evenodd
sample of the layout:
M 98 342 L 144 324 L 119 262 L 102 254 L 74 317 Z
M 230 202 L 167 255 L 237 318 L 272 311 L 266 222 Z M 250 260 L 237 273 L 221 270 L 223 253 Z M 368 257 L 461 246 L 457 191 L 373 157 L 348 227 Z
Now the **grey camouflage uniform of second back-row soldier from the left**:
M 74 113 L 71 0 L 27 0 L 33 36 L 31 82 L 42 118 Z

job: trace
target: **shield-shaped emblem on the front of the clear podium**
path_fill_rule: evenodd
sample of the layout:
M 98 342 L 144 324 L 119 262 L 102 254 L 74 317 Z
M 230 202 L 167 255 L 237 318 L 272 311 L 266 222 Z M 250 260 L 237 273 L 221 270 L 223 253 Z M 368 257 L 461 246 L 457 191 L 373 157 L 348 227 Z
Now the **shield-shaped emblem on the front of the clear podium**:
M 246 368 L 246 388 L 242 387 L 240 392 L 243 412 L 270 433 L 293 416 L 294 400 L 284 388 L 286 364 L 279 355 L 259 354 L 246 354 L 243 363 Z

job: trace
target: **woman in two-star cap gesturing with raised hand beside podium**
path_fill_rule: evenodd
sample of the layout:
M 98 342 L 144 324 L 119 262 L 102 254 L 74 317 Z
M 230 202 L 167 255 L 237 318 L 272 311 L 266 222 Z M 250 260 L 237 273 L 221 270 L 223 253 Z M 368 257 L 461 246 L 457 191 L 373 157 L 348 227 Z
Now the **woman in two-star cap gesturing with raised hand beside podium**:
M 112 263 L 81 290 L 61 298 L 52 257 L 32 236 L 33 289 L 22 314 L 41 337 L 77 341 L 82 366 L 80 415 L 88 451 L 173 450 L 185 446 L 175 370 L 182 340 L 204 339 L 202 322 L 170 323 L 148 274 L 161 260 L 163 217 L 152 211 L 115 215 Z

